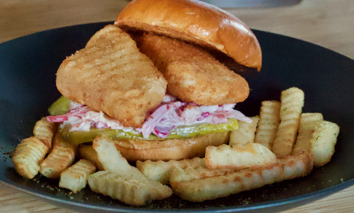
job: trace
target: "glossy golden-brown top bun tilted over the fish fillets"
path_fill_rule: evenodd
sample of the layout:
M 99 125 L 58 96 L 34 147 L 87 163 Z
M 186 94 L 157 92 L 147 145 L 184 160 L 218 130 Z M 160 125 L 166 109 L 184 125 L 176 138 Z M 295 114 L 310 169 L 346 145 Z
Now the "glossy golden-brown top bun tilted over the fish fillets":
M 235 16 L 205 2 L 133 0 L 114 24 L 217 49 L 246 67 L 260 70 L 262 66 L 261 47 L 252 31 Z

